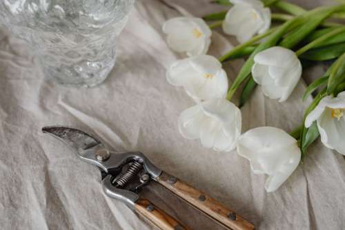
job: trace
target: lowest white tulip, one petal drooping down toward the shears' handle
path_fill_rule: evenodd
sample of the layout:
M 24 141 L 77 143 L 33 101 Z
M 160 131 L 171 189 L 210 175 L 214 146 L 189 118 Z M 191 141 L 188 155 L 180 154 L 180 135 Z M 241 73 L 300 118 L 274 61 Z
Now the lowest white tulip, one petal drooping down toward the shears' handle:
M 268 174 L 266 191 L 275 191 L 301 160 L 297 140 L 275 127 L 257 127 L 239 137 L 237 151 L 250 160 L 254 174 Z

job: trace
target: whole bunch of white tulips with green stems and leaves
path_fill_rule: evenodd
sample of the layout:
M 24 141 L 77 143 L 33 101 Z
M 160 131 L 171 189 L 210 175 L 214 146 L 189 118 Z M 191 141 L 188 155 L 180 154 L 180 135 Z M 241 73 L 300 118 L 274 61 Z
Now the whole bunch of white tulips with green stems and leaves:
M 173 63 L 166 74 L 168 82 L 184 87 L 196 104 L 181 112 L 181 134 L 217 151 L 237 148 L 255 174 L 268 175 L 268 192 L 295 171 L 319 136 L 326 147 L 345 155 L 345 25 L 329 20 L 345 18 L 345 3 L 313 10 L 280 0 L 214 3 L 228 10 L 203 19 L 177 17 L 163 26 L 169 47 L 188 56 Z M 212 30 L 218 27 L 235 36 L 239 45 L 216 58 L 206 53 Z M 222 66 L 239 58 L 246 62 L 229 83 Z M 290 134 L 276 127 L 257 127 L 242 134 L 239 107 L 257 85 L 265 96 L 284 103 L 302 76 L 302 63 L 328 60 L 333 61 L 331 67 L 308 85 L 301 98 L 318 92 L 300 127 Z M 240 88 L 237 107 L 231 101 Z

